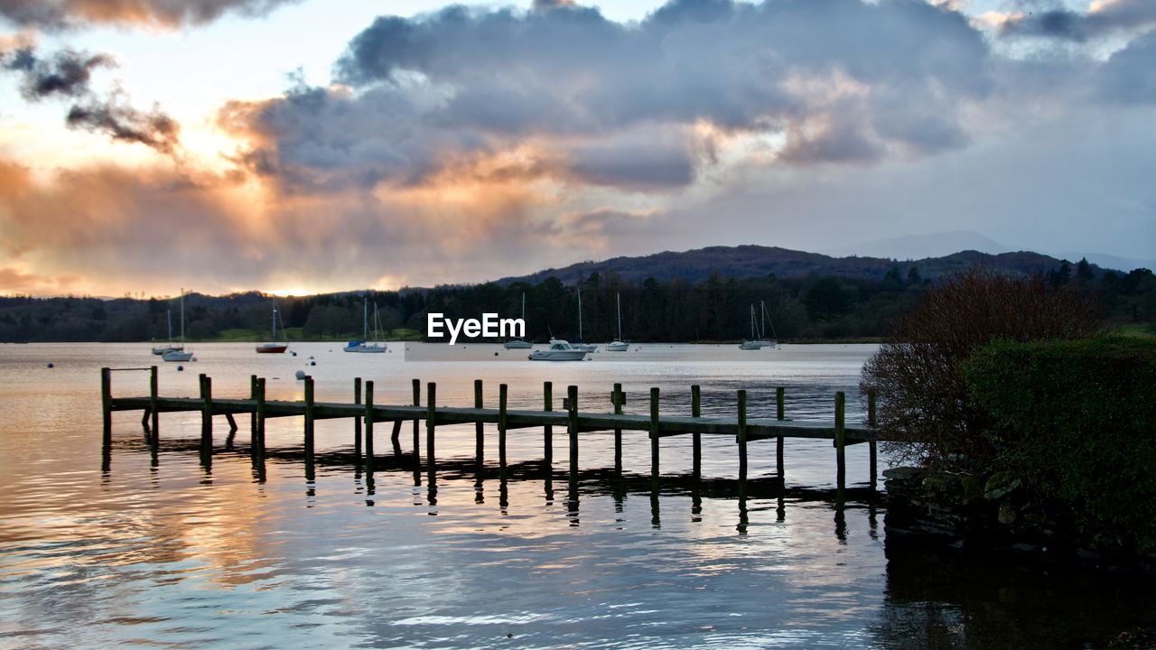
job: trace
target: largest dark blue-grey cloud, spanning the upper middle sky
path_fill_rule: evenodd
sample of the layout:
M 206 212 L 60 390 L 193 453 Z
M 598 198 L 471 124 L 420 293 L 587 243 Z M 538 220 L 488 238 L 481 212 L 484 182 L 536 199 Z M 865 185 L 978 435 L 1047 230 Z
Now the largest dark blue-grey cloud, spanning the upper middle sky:
M 701 124 L 784 135 L 795 164 L 961 147 L 988 58 L 963 15 L 914 0 L 674 0 L 630 24 L 569 2 L 454 6 L 377 19 L 335 66 L 348 90 L 236 103 L 223 121 L 253 136 L 251 167 L 305 190 L 421 183 L 527 142 L 535 173 L 673 187 L 695 178 Z

